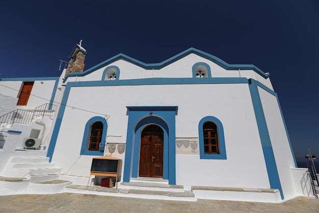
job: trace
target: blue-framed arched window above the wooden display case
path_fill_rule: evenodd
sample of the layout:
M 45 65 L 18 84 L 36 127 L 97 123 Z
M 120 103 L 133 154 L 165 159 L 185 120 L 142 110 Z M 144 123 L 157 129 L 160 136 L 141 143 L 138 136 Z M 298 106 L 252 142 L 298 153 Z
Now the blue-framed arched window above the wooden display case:
M 85 125 L 81 155 L 103 155 L 100 144 L 105 146 L 108 123 L 100 116 L 92 117 Z

